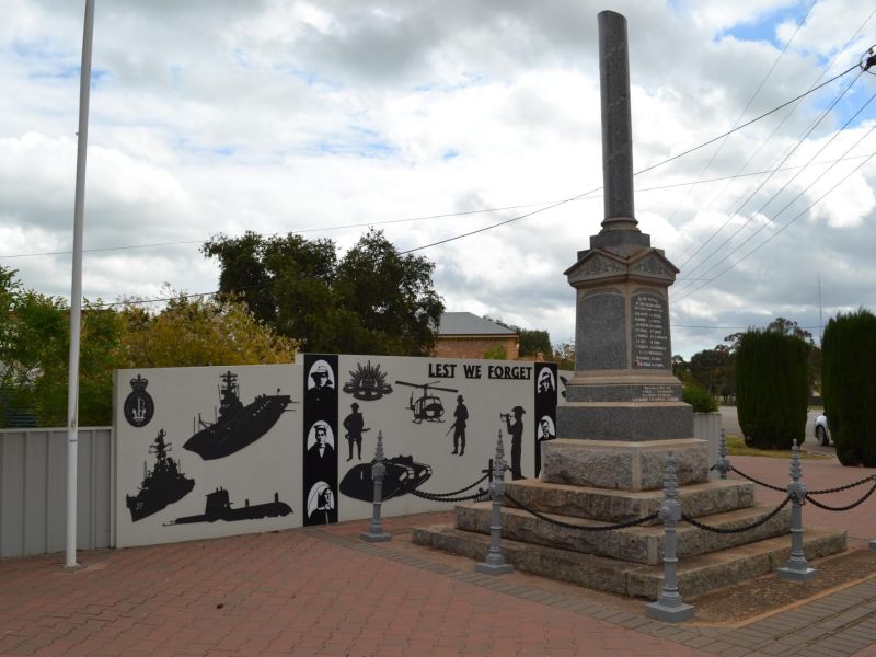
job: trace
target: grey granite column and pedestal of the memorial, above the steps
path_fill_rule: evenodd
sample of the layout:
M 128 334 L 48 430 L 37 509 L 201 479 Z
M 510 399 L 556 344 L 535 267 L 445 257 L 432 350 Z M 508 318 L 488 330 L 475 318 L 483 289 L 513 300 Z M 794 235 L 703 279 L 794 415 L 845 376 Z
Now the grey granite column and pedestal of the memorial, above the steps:
M 569 403 L 557 408 L 561 440 L 545 448 L 556 453 L 544 454 L 542 479 L 573 483 L 577 475 L 568 470 L 583 459 L 580 469 L 602 476 L 575 483 L 658 488 L 666 452 L 675 451 L 681 485 L 705 481 L 705 446 L 692 438 L 691 408 L 672 376 L 668 288 L 678 269 L 635 218 L 626 19 L 618 13 L 599 14 L 599 57 L 604 219 L 565 272 L 577 291 L 576 371 L 566 387 Z M 569 457 L 573 465 L 557 472 Z

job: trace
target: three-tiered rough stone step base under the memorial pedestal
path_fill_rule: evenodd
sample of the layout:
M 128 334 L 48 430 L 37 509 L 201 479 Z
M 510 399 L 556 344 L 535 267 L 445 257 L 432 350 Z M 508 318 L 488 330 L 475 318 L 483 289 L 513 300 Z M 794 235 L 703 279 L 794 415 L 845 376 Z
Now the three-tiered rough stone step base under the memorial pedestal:
M 710 481 L 678 489 L 682 512 L 710 527 L 745 527 L 774 507 L 753 502 L 752 484 Z M 659 509 L 661 491 L 615 491 L 548 483 L 508 482 L 508 493 L 552 519 L 604 526 L 648 516 Z M 454 526 L 414 530 L 413 541 L 483 561 L 489 546 L 491 503 L 458 505 Z M 656 599 L 662 587 L 664 526 L 580 531 L 540 520 L 507 503 L 502 509 L 505 561 L 537 575 L 595 589 Z M 765 575 L 791 553 L 791 505 L 764 525 L 722 534 L 678 525 L 679 590 L 698 596 Z M 845 550 L 845 532 L 804 527 L 807 560 Z

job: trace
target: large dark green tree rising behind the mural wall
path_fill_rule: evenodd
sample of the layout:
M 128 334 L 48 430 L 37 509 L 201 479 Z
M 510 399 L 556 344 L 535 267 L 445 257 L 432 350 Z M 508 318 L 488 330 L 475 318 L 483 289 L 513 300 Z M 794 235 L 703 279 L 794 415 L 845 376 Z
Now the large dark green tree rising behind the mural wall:
M 278 334 L 308 351 L 427 356 L 443 303 L 435 265 L 403 255 L 369 230 L 337 260 L 332 240 L 300 235 L 214 238 L 201 247 L 219 261 L 219 289 L 234 293 Z

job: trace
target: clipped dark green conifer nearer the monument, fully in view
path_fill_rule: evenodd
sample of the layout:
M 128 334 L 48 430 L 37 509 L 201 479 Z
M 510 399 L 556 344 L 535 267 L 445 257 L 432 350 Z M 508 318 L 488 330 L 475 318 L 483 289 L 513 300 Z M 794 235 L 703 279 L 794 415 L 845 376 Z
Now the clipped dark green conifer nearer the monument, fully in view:
M 809 345 L 775 331 L 749 330 L 736 351 L 736 405 L 746 445 L 791 449 L 806 438 Z

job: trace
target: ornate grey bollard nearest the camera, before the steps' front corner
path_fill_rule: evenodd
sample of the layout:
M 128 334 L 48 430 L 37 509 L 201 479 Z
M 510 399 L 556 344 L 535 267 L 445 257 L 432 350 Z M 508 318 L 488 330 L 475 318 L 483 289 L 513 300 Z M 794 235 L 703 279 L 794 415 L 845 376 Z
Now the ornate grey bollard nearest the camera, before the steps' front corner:
M 693 618 L 693 604 L 685 604 L 678 592 L 677 527 L 681 519 L 681 505 L 678 502 L 678 477 L 672 452 L 666 457 L 666 491 L 660 519 L 665 531 L 664 590 L 655 602 L 645 606 L 645 615 L 666 623 L 681 623 Z

